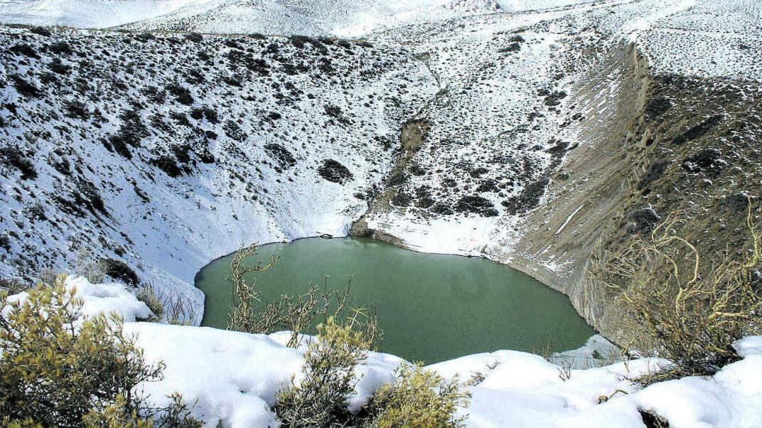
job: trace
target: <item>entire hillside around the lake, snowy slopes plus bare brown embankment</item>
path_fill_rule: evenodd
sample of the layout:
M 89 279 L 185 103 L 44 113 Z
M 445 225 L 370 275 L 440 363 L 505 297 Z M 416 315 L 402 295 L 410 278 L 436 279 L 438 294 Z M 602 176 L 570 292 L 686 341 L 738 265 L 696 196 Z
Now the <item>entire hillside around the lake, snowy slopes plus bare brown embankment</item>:
M 240 244 L 351 232 L 511 264 L 623 340 L 587 281 L 632 222 L 743 242 L 724 201 L 760 182 L 760 5 L 540 6 L 383 2 L 401 21 L 363 41 L 4 27 L 2 272 L 88 248 L 200 312 L 194 273 Z M 128 28 L 233 28 L 178 11 Z

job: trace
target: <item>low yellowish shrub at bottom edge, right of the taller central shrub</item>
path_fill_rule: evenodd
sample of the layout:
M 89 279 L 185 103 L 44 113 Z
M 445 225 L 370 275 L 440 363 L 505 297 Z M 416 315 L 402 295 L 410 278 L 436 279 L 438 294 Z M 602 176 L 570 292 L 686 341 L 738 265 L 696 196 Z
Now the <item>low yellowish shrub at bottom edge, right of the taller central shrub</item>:
M 369 405 L 369 428 L 458 428 L 465 417 L 455 417 L 458 407 L 468 404 L 470 394 L 457 378 L 443 379 L 421 366 L 400 366 L 397 381 L 373 394 Z

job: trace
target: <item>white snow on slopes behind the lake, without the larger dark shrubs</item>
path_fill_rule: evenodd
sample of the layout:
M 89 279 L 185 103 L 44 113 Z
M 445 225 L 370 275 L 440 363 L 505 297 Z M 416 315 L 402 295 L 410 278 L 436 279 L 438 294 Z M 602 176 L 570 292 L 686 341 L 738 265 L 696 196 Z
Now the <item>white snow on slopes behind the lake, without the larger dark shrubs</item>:
M 156 7 L 150 7 L 149 0 L 6 0 L 0 3 L 0 21 L 88 27 L 131 23 L 136 28 L 151 28 L 152 20 L 164 24 L 175 18 L 178 22 L 207 22 L 197 19 L 206 14 L 222 20 L 208 21 L 213 28 L 207 30 L 213 32 L 278 28 L 281 22 L 272 21 L 270 14 L 245 9 L 254 7 L 251 2 L 183 0 L 159 5 L 156 1 Z M 584 52 L 605 50 L 637 34 L 637 43 L 648 53 L 656 72 L 762 78 L 756 49 L 762 46 L 757 43 L 762 40 L 758 25 L 762 11 L 760 4 L 751 0 L 500 1 L 496 2 L 498 11 L 493 2 L 479 1 L 347 0 L 328 6 L 319 0 L 300 0 L 264 2 L 261 7 L 265 3 L 268 10 L 277 9 L 298 21 L 283 27 L 284 33 L 312 28 L 321 34 L 353 34 L 366 37 L 376 47 L 356 50 L 359 54 L 354 58 L 331 47 L 332 66 L 341 81 L 335 75 L 322 79 L 321 73 L 290 75 L 288 70 L 274 70 L 270 81 L 249 78 L 237 89 L 219 84 L 236 72 L 226 58 L 234 51 L 223 45 L 226 37 L 207 35 L 200 46 L 175 46 L 176 35 L 159 34 L 155 40 L 128 45 L 120 33 L 56 30 L 56 40 L 88 46 L 80 51 L 86 56 L 83 60 L 57 58 L 72 67 L 68 81 L 61 83 L 63 91 L 51 93 L 44 101 L 30 101 L 11 85 L 0 88 L 4 105 L 19 107 L 15 114 L 0 110 L 0 118 L 9 124 L 0 129 L 0 138 L 16 141 L 14 144 L 34 153 L 40 174 L 34 183 L 24 183 L 27 190 L 19 186 L 14 172 L 2 171 L 2 232 L 31 236 L 24 237 L 23 243 L 21 238 L 12 242 L 8 257 L 0 261 L 0 272 L 23 275 L 40 264 L 60 269 L 85 246 L 94 254 L 126 261 L 142 279 L 193 302 L 198 321 L 203 295 L 191 284 L 200 267 L 242 244 L 321 233 L 346 235 L 351 223 L 367 209 L 367 202 L 357 195 L 383 185 L 395 167 L 393 149 L 400 126 L 420 117 L 431 123 L 431 129 L 408 163 L 426 174 L 409 176 L 395 188 L 395 193 L 412 196 L 414 203 L 367 213 L 368 225 L 417 251 L 483 255 L 505 262 L 514 257 L 514 244 L 527 225 L 522 223 L 523 212 L 511 215 L 504 203 L 546 177 L 562 161 L 549 152 L 554 139 L 575 142 L 575 130 L 566 124 L 573 113 L 590 113 L 576 111 L 572 101 L 575 82 L 584 78 L 597 60 L 586 58 Z M 248 21 L 239 22 L 242 27 L 230 27 L 232 21 L 224 18 L 229 14 Z M 38 18 L 40 21 L 35 21 Z M 53 21 L 45 21 L 49 18 Z M 118 22 L 109 21 L 113 19 Z M 355 30 L 337 30 L 352 26 Z M 184 29 L 174 24 L 168 28 Z M 517 32 L 525 40 L 520 50 L 504 51 Z M 50 91 L 53 85 L 39 81 L 50 75 L 48 68 L 56 59 L 46 52 L 46 37 L 5 28 L 0 43 L 7 51 L 20 37 L 36 47 L 40 59 L 6 53 L 0 73 L 5 80 L 11 74 L 37 76 L 33 83 Z M 717 45 L 725 38 L 733 43 Z M 304 60 L 305 52 L 283 37 L 264 42 L 241 38 L 238 43 L 258 53 L 256 58 L 264 58 L 273 69 L 281 60 L 295 64 Z M 260 55 L 269 43 L 282 46 L 281 53 Z M 212 56 L 209 64 L 197 59 L 199 52 Z M 314 51 L 307 56 L 313 68 L 319 64 Z M 131 64 L 135 74 L 128 74 L 130 68 L 125 69 L 124 64 Z M 97 73 L 88 73 L 91 69 Z M 136 150 L 139 154 L 129 168 L 123 158 L 102 147 L 101 141 L 119 129 L 120 114 L 131 108 L 133 100 L 147 106 L 141 113 L 146 122 L 153 115 L 165 117 L 191 110 L 171 102 L 154 103 L 143 91 L 147 85 L 162 87 L 174 81 L 178 72 L 187 78 L 193 70 L 203 70 L 203 81 L 191 85 L 196 99 L 191 107 L 214 106 L 226 119 L 266 117 L 271 112 L 282 118 L 272 123 L 241 119 L 248 135 L 242 142 L 228 138 L 223 123 L 201 120 L 193 129 L 170 123 L 172 138 L 163 132 L 147 137 L 142 142 L 145 150 Z M 613 90 L 620 76 L 610 77 Z M 99 123 L 100 128 L 94 128 L 92 120 L 66 117 L 65 104 L 80 95 L 82 80 L 77 79 L 91 81 L 91 91 L 82 97 L 88 110 L 97 108 L 103 113 L 106 122 Z M 272 81 L 283 81 L 294 89 L 289 94 Z M 113 93 L 110 90 L 115 86 L 127 89 Z M 543 91 L 564 91 L 568 96 L 560 100 L 560 106 L 549 106 L 540 95 Z M 283 99 L 276 98 L 280 96 L 293 98 L 291 105 L 284 106 Z M 244 97 L 255 102 L 239 99 Z M 605 101 L 601 95 L 600 102 Z M 341 107 L 353 122 L 351 126 L 326 123 L 323 107 L 327 105 Z M 165 154 L 174 144 L 199 144 L 198 135 L 207 131 L 219 136 L 208 143 L 210 152 L 220 159 L 218 164 L 199 164 L 192 177 L 177 180 L 165 177 L 151 164 L 157 153 Z M 271 143 L 295 155 L 296 166 L 285 173 L 273 168 L 263 149 Z M 66 209 L 84 210 L 85 217 L 51 208 L 51 200 L 77 187 L 51 168 L 52 160 L 61 158 L 81 170 L 78 180 L 103 190 L 101 197 L 110 219 L 98 219 L 71 201 Z M 326 158 L 350 169 L 355 177 L 351 184 L 342 187 L 315 174 Z M 252 164 L 255 171 L 251 171 Z M 145 199 L 138 190 L 145 193 Z M 475 194 L 485 198 L 498 215 L 434 214 L 437 204 L 415 206 L 424 202 L 419 194 L 450 207 L 459 198 Z M 543 195 L 539 205 L 551 202 L 550 197 Z M 55 217 L 55 224 L 25 214 L 37 204 L 43 206 L 46 216 Z M 570 216 L 567 221 L 571 220 Z M 38 249 L 45 260 L 24 254 L 20 259 L 23 269 L 11 264 L 22 252 L 29 253 L 25 245 Z M 117 255 L 116 249 L 126 253 Z M 539 264 L 557 273 L 570 266 L 562 257 L 551 256 L 542 256 Z

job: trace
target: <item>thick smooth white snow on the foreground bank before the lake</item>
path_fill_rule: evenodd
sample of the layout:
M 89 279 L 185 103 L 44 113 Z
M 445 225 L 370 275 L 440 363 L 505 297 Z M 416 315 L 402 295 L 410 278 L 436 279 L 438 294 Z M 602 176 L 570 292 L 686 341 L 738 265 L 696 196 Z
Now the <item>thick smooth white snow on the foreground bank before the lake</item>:
M 116 311 L 126 320 L 145 318 L 148 308 L 117 284 L 91 284 L 71 278 L 85 300 L 83 316 Z M 12 297 L 23 299 L 23 295 Z M 152 401 L 162 404 L 179 391 L 196 403 L 194 414 L 208 426 L 277 426 L 270 407 L 277 391 L 291 382 L 303 364 L 305 346 L 285 347 L 288 334 L 267 337 L 208 327 L 126 322 L 149 362 L 166 363 L 160 382 L 142 385 Z M 305 340 L 312 340 L 305 337 Z M 605 350 L 591 341 L 577 356 Z M 465 356 L 428 366 L 445 378 L 468 380 L 469 427 L 536 428 L 585 426 L 642 428 L 639 410 L 652 410 L 674 428 L 757 428 L 762 420 L 762 337 L 747 337 L 736 345 L 744 359 L 712 377 L 690 377 L 641 388 L 630 379 L 658 369 L 656 359 L 634 359 L 592 369 L 566 369 L 540 356 L 511 350 Z M 379 385 L 393 382 L 394 370 L 408 364 L 396 356 L 369 353 L 357 369 L 360 382 L 352 401 L 359 408 Z

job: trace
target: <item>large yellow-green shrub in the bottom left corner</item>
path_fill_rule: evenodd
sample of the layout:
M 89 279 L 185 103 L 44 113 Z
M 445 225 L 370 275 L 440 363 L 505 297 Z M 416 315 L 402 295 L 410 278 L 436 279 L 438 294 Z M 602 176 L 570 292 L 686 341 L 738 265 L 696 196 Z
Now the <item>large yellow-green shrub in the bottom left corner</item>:
M 134 388 L 160 377 L 117 316 L 78 320 L 82 299 L 37 286 L 24 302 L 0 301 L 0 417 L 43 426 L 82 426 L 92 409 L 139 410 Z M 78 324 L 81 323 L 81 324 Z

